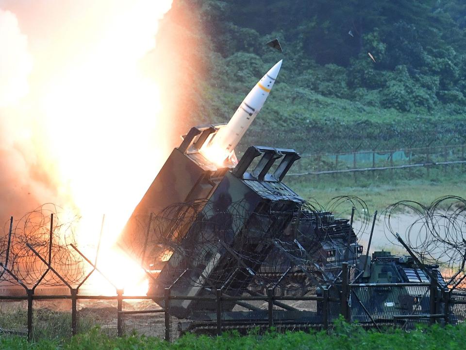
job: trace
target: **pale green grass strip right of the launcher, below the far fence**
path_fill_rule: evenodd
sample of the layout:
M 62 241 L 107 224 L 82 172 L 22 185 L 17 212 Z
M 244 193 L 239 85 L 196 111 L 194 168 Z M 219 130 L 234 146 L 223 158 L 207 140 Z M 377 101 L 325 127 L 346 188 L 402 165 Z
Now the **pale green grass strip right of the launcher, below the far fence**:
M 438 172 L 437 172 L 438 173 Z M 356 195 L 363 199 L 371 212 L 386 209 L 401 200 L 412 200 L 428 205 L 444 195 L 466 198 L 466 175 L 454 173 L 448 176 L 432 173 L 430 177 L 416 179 L 375 178 L 370 174 L 288 177 L 285 182 L 304 198 L 314 198 L 322 205 L 340 195 Z M 363 177 L 364 176 L 364 177 Z

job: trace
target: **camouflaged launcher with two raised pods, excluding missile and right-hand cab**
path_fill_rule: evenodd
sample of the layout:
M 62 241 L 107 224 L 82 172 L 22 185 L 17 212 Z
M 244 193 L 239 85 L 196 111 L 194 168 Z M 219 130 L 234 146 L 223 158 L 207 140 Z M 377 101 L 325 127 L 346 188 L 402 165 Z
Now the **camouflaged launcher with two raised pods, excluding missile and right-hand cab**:
M 283 183 L 300 159 L 294 150 L 251 146 L 236 166 L 211 162 L 200 149 L 222 127 L 190 130 L 134 210 L 120 245 L 150 270 L 148 295 L 162 296 L 165 288 L 191 297 L 217 289 L 226 297 L 265 296 L 269 288 L 276 295 L 314 294 L 337 278 L 341 262 L 361 255 L 349 220 L 312 208 Z M 223 318 L 266 322 L 264 305 L 225 303 Z M 283 322 L 320 317 L 316 308 L 274 305 Z M 183 319 L 208 322 L 215 310 L 214 301 L 170 302 L 170 313 Z

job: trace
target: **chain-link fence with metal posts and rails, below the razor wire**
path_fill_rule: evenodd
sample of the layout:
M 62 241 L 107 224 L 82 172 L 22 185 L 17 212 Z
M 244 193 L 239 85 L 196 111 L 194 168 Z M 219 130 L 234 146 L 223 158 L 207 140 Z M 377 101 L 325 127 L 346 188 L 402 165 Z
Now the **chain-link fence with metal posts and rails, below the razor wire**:
M 343 273 L 348 273 L 343 266 Z M 345 272 L 346 271 L 346 272 Z M 0 290 L 0 329 L 29 339 L 61 338 L 99 326 L 109 336 L 144 334 L 169 341 L 183 333 L 221 334 L 229 330 L 274 327 L 284 330 L 329 329 L 343 315 L 366 327 L 411 328 L 415 323 L 456 324 L 466 317 L 466 294 L 425 283 L 350 283 L 309 288 L 301 296 L 280 288 L 266 295 L 229 296 L 217 289 L 202 296 L 73 295 L 65 288 L 36 288 L 27 294 L 15 286 Z M 195 303 L 189 314 L 177 306 Z

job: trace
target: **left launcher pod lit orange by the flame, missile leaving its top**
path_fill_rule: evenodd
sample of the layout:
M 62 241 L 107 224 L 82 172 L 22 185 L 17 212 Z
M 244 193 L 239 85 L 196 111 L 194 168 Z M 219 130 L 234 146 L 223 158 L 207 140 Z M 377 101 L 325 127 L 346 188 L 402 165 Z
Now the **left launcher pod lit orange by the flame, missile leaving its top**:
M 164 237 L 154 237 L 152 217 L 159 215 L 166 208 L 177 203 L 197 201 L 196 207 L 202 206 L 215 191 L 227 171 L 234 168 L 232 162 L 218 166 L 202 155 L 200 149 L 224 127 L 225 124 L 202 125 L 193 127 L 183 136 L 181 145 L 171 152 L 165 164 L 153 180 L 147 192 L 126 223 L 118 244 L 129 250 L 133 256 L 143 259 L 143 266 L 149 268 L 153 264 L 153 256 L 157 254 L 156 244 Z M 149 159 L 148 159 L 149 161 Z M 177 210 L 169 214 L 176 215 Z M 148 240 L 148 233 L 152 235 Z M 158 232 L 160 233 L 160 232 Z M 146 253 L 148 244 L 154 252 Z M 162 256 L 163 251 L 162 251 Z

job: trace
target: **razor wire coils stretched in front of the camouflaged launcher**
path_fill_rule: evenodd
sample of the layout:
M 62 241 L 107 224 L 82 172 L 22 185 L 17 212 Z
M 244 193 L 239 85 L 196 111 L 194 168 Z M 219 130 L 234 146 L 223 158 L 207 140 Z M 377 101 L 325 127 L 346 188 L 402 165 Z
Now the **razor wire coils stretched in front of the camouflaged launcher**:
M 290 200 L 284 197 L 262 206 L 245 199 L 174 204 L 152 216 L 148 241 L 153 245 L 146 256 L 155 270 L 160 269 L 162 280 L 189 269 L 177 282 L 187 289 L 247 292 L 280 285 L 296 292 L 334 282 L 336 274 L 327 269 L 323 244 L 343 251 L 354 244 L 367 227 L 366 204 L 354 196 L 335 197 L 326 206 L 315 200 Z M 344 204 L 345 215 L 355 205 L 361 208 L 356 213 L 364 224 L 357 234 L 349 219 L 334 216 Z M 171 259 L 165 263 L 167 256 Z

